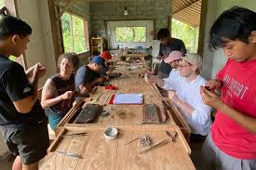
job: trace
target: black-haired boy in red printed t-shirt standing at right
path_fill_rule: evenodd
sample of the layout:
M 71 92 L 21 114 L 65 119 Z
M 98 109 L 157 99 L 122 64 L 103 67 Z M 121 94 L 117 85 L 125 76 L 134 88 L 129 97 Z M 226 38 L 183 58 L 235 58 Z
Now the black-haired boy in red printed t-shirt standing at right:
M 228 59 L 200 91 L 217 110 L 202 148 L 204 169 L 256 169 L 256 13 L 232 7 L 213 23 L 209 35 L 209 47 L 222 47 Z

